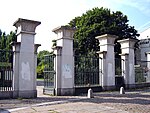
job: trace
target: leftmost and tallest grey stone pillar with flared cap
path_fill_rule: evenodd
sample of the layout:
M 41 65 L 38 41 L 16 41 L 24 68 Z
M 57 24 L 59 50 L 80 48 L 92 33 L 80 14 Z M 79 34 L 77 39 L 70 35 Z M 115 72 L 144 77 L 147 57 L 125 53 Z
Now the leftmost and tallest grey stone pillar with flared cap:
M 35 75 L 35 45 L 34 35 L 36 27 L 40 24 L 38 21 L 32 21 L 19 18 L 14 26 L 17 28 L 17 41 L 20 42 L 18 46 L 18 61 L 17 66 L 14 66 L 16 76 L 15 82 L 18 82 L 18 97 L 34 98 L 37 97 L 36 90 L 36 75 Z

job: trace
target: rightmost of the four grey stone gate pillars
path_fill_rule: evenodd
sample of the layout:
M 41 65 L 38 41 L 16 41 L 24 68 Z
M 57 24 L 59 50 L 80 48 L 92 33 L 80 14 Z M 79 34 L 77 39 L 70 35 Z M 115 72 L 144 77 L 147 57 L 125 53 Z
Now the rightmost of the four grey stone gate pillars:
M 124 76 L 125 85 L 127 88 L 134 87 L 135 84 L 135 69 L 134 69 L 134 45 L 137 39 L 124 39 L 118 41 L 121 44 L 122 56 L 124 60 L 124 71 L 122 76 Z

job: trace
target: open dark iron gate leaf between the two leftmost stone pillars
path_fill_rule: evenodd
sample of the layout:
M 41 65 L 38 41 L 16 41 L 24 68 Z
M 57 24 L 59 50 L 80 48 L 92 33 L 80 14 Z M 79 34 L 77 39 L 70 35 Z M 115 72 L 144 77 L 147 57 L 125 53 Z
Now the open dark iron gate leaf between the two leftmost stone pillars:
M 45 55 L 44 63 L 44 94 L 55 94 L 55 55 Z

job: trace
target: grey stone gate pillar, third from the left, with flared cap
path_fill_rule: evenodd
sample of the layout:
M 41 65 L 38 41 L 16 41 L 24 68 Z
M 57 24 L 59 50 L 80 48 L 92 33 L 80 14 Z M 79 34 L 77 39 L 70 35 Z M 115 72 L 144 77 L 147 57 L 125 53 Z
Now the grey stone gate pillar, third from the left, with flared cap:
M 100 77 L 100 85 L 104 90 L 115 88 L 115 58 L 114 58 L 114 41 L 117 36 L 114 35 L 101 35 L 97 36 L 99 40 L 100 51 L 99 56 L 102 62 L 99 64 L 102 72 Z

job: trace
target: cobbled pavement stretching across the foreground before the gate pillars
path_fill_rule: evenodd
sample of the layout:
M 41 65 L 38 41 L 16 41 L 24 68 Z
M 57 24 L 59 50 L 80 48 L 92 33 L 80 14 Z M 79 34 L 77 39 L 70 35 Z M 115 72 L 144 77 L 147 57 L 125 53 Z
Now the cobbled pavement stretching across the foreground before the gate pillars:
M 150 113 L 150 89 L 94 93 L 82 96 L 43 95 L 38 86 L 36 99 L 0 100 L 0 113 Z

